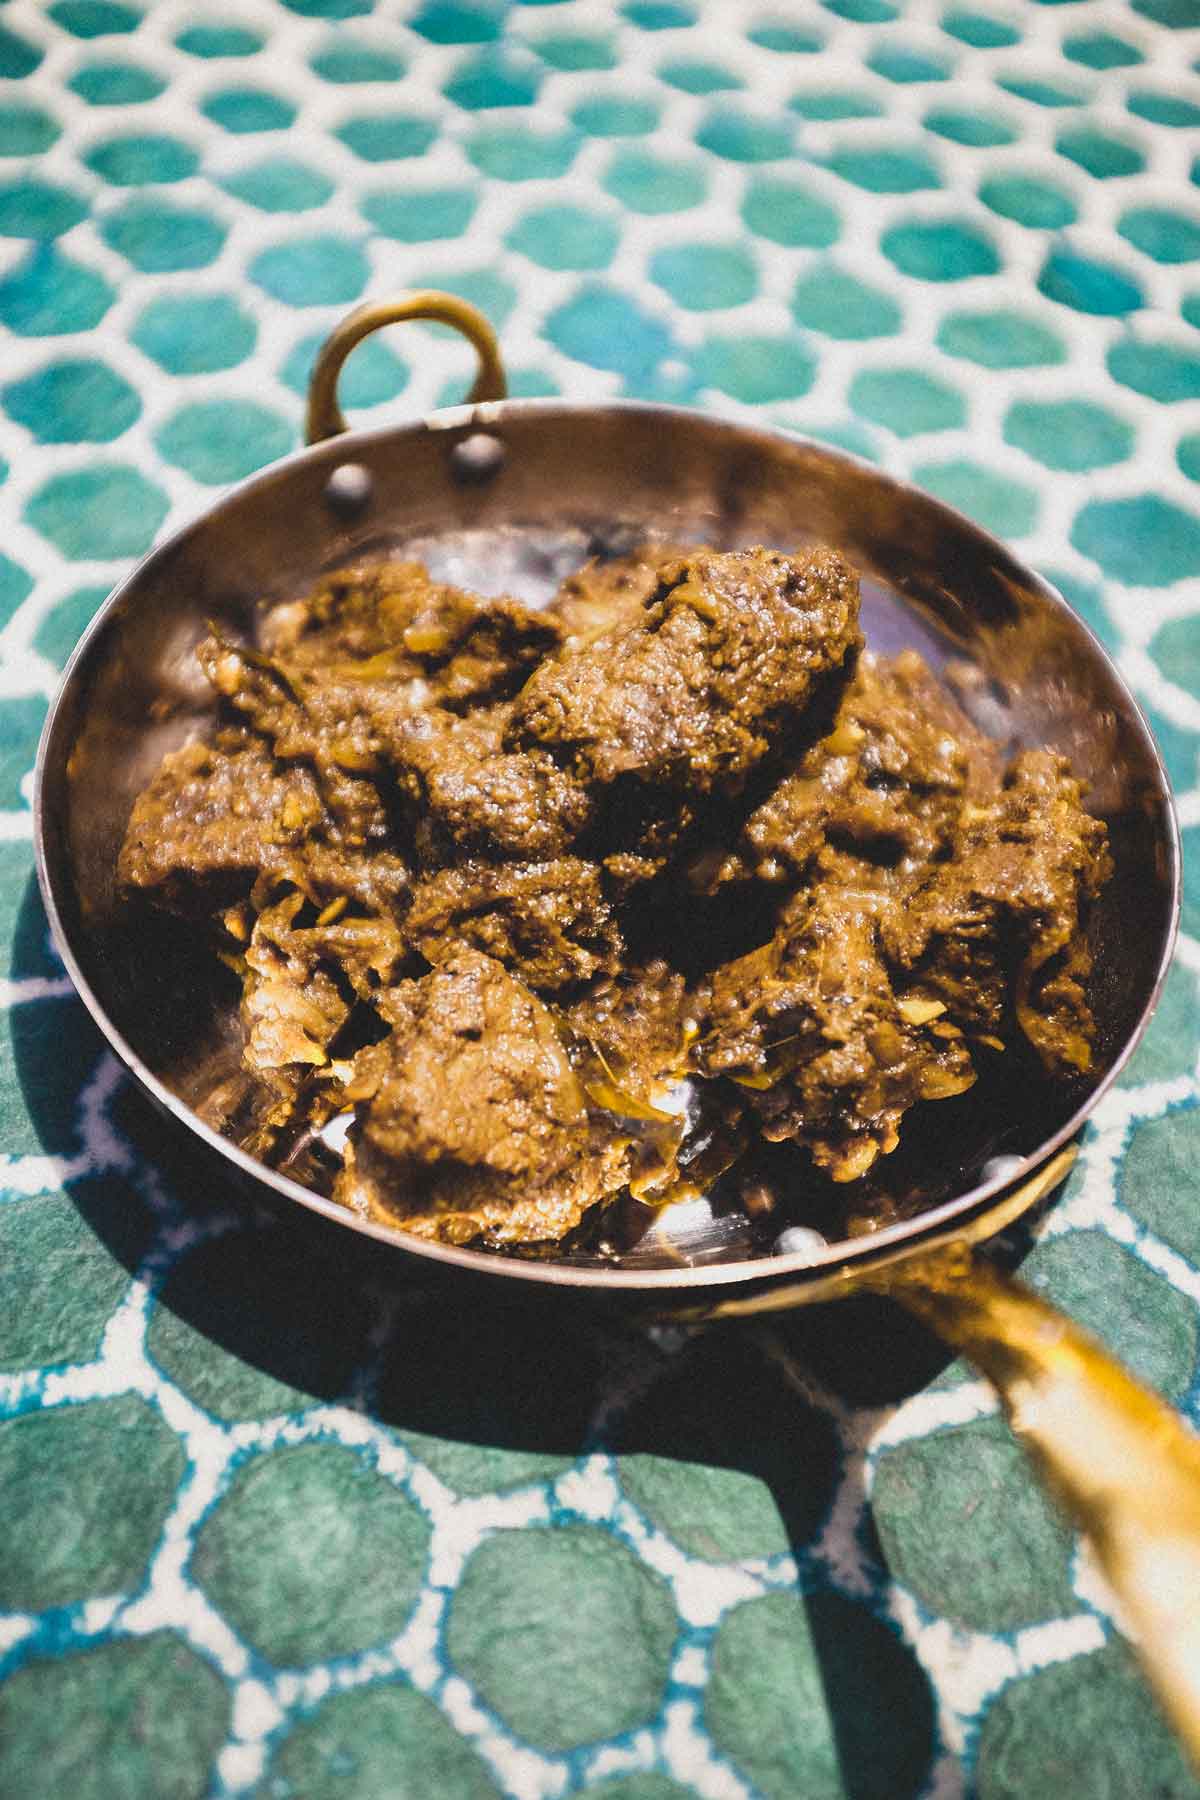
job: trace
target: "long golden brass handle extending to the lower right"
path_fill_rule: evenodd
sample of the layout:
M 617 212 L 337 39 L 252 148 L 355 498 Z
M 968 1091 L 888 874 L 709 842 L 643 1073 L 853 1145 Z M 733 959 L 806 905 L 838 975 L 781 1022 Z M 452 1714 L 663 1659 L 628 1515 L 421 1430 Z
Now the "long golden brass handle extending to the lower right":
M 966 1247 L 871 1282 L 999 1388 L 1090 1537 L 1142 1669 L 1200 1768 L 1200 1438 L 1040 1294 Z

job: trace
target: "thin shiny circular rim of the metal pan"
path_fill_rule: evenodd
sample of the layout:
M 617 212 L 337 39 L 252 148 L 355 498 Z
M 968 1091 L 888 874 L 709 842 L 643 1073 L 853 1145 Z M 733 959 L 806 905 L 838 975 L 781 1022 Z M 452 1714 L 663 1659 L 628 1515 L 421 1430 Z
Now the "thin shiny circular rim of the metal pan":
M 167 1085 L 157 1076 L 139 1057 L 133 1046 L 128 1042 L 122 1031 L 117 1030 L 115 1022 L 108 1017 L 108 1012 L 94 992 L 90 981 L 86 979 L 79 959 L 70 945 L 68 932 L 63 923 L 63 916 L 58 905 L 58 896 L 54 891 L 54 877 L 50 871 L 50 859 L 47 851 L 47 796 L 45 796 L 45 772 L 49 752 L 56 738 L 58 720 L 61 718 L 67 698 L 77 680 L 79 670 L 88 661 L 95 639 L 103 634 L 108 619 L 122 603 L 122 599 L 137 589 L 137 585 L 146 578 L 146 574 L 160 562 L 173 556 L 184 544 L 191 531 L 200 529 L 200 526 L 210 524 L 227 508 L 237 506 L 246 499 L 254 499 L 259 488 L 268 488 L 270 484 L 286 479 L 286 475 L 300 466 L 318 463 L 322 459 L 331 459 L 336 463 L 354 461 L 354 448 L 365 445 L 380 445 L 387 439 L 405 439 L 417 437 L 430 432 L 464 432 L 486 430 L 488 427 L 502 425 L 506 418 L 511 416 L 533 416 L 538 414 L 574 414 L 574 416 L 597 416 L 597 414 L 644 414 L 662 419 L 687 421 L 689 427 L 700 425 L 702 428 L 732 432 L 747 441 L 761 441 L 765 445 L 790 445 L 806 448 L 808 452 L 819 455 L 833 464 L 855 468 L 871 477 L 882 488 L 891 490 L 896 495 L 918 497 L 921 506 L 934 508 L 943 517 L 952 520 L 959 529 L 973 536 L 981 547 L 986 547 L 991 554 L 999 554 L 1007 563 L 1016 567 L 1022 580 L 1038 594 L 1040 599 L 1049 603 L 1054 610 L 1063 610 L 1070 616 L 1074 626 L 1083 632 L 1090 652 L 1105 666 L 1108 679 L 1119 689 L 1126 707 L 1128 718 L 1135 725 L 1142 738 L 1142 747 L 1148 752 L 1148 765 L 1155 772 L 1157 797 L 1162 801 L 1164 812 L 1164 837 L 1168 848 L 1168 927 L 1162 934 L 1162 945 L 1159 954 L 1159 963 L 1155 970 L 1155 979 L 1151 983 L 1146 1003 L 1139 1013 L 1137 1024 L 1126 1037 L 1124 1044 L 1114 1057 L 1110 1067 L 1105 1071 L 1101 1080 L 1096 1084 L 1092 1093 L 1076 1107 L 1070 1118 L 1047 1139 L 1043 1139 L 1034 1150 L 1020 1157 L 1016 1166 L 1006 1168 L 995 1174 L 991 1179 L 979 1183 L 977 1186 L 966 1190 L 964 1193 L 954 1195 L 948 1201 L 941 1201 L 937 1206 L 927 1211 L 916 1213 L 910 1219 L 898 1220 L 891 1226 L 882 1226 L 878 1231 L 865 1233 L 858 1238 L 840 1238 L 829 1242 L 822 1251 L 799 1251 L 790 1255 L 772 1255 L 759 1258 L 739 1258 L 736 1262 L 718 1262 L 718 1264 L 698 1264 L 685 1265 L 678 1269 L 622 1269 L 621 1265 L 572 1265 L 556 1262 L 534 1262 L 518 1256 L 504 1256 L 497 1251 L 468 1249 L 453 1244 L 441 1244 L 430 1238 L 416 1237 L 414 1233 L 403 1231 L 398 1226 L 376 1224 L 372 1220 L 362 1219 L 347 1208 L 340 1206 L 333 1199 L 317 1193 L 311 1188 L 302 1186 L 290 1175 L 282 1175 L 255 1157 L 248 1156 L 237 1145 L 230 1143 L 210 1125 L 205 1125 L 198 1114 L 182 1102 Z M 279 1193 L 282 1199 L 295 1201 L 309 1211 L 329 1219 L 333 1224 L 358 1231 L 363 1237 L 371 1237 L 380 1244 L 387 1244 L 392 1249 L 403 1251 L 405 1255 L 421 1256 L 434 1264 L 464 1269 L 475 1274 L 498 1274 L 515 1280 L 533 1282 L 538 1287 L 581 1287 L 590 1291 L 689 1291 L 689 1289 L 709 1289 L 709 1287 L 736 1287 L 748 1283 L 770 1283 L 775 1285 L 783 1280 L 813 1280 L 820 1276 L 829 1276 L 837 1269 L 860 1269 L 869 1265 L 880 1256 L 894 1253 L 901 1246 L 910 1246 L 914 1251 L 919 1249 L 923 1238 L 934 1237 L 945 1231 L 957 1220 L 966 1220 L 982 1208 L 988 1206 L 1000 1193 L 1015 1188 L 1022 1181 L 1029 1179 L 1056 1150 L 1060 1150 L 1083 1123 L 1090 1118 L 1096 1107 L 1101 1103 L 1105 1094 L 1110 1091 L 1114 1082 L 1119 1078 L 1121 1071 L 1126 1067 L 1133 1051 L 1141 1044 L 1150 1019 L 1159 1004 L 1162 986 L 1166 983 L 1171 959 L 1175 954 L 1175 943 L 1178 938 L 1180 923 L 1180 887 L 1182 887 L 1182 842 L 1178 828 L 1178 814 L 1175 806 L 1175 796 L 1171 792 L 1171 783 L 1162 763 L 1162 752 L 1155 742 L 1146 716 L 1130 691 L 1124 675 L 1117 668 L 1115 661 L 1110 657 L 1105 644 L 1092 632 L 1090 625 L 1079 617 L 1078 612 L 1069 605 L 1069 601 L 1054 589 L 1043 576 L 1029 569 L 1020 562 L 1011 549 L 1007 549 L 1002 540 L 995 538 L 991 533 L 984 531 L 964 513 L 937 500 L 934 495 L 925 493 L 912 482 L 905 482 L 885 470 L 876 468 L 864 457 L 856 457 L 846 450 L 835 448 L 831 445 L 819 443 L 817 439 L 806 437 L 802 432 L 792 432 L 777 425 L 759 425 L 754 421 L 700 412 L 698 409 L 666 405 L 644 400 L 603 400 L 603 401 L 570 401 L 563 398 L 538 398 L 538 400 L 500 400 L 486 401 L 480 405 L 462 405 L 462 407 L 444 407 L 425 414 L 423 418 L 387 427 L 372 427 L 369 430 L 351 430 L 338 437 L 327 437 L 320 443 L 302 446 L 270 463 L 266 468 L 257 470 L 245 481 L 228 488 L 212 506 L 205 508 L 194 518 L 189 518 L 167 538 L 157 544 L 146 556 L 142 556 L 133 569 L 113 587 L 103 605 L 97 608 L 95 616 L 85 628 L 79 643 L 76 644 L 72 655 L 68 657 L 63 675 L 58 684 L 58 691 L 41 729 L 38 742 L 38 754 L 34 763 L 34 788 L 32 788 L 32 842 L 34 842 L 34 862 L 38 871 L 38 886 L 41 891 L 41 900 L 47 911 L 47 920 L 54 934 L 54 943 L 63 959 L 63 967 L 70 976 L 74 988 L 88 1010 L 92 1021 L 101 1030 L 103 1037 L 108 1040 L 110 1048 L 115 1051 L 119 1060 L 130 1071 L 130 1075 L 146 1089 L 146 1093 L 180 1125 L 189 1130 L 194 1138 L 209 1147 L 216 1156 L 230 1161 L 245 1177 L 252 1183 L 264 1184 Z

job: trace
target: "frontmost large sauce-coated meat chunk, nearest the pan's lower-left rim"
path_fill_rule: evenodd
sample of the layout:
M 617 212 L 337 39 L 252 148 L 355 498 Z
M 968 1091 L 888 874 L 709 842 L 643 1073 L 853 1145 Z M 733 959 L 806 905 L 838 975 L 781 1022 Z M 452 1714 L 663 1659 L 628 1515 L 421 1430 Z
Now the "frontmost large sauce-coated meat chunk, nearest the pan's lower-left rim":
M 419 1237 L 561 1238 L 622 1184 L 554 1021 L 489 956 L 462 950 L 390 995 L 392 1033 L 360 1053 L 338 1197 Z

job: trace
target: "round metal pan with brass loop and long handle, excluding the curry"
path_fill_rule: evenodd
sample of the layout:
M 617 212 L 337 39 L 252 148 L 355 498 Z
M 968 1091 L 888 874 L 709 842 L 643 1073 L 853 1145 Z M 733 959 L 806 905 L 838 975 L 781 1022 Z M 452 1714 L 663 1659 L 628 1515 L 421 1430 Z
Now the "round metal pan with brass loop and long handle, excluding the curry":
M 367 333 L 401 319 L 439 319 L 471 340 L 471 400 L 414 425 L 345 434 L 335 392 L 342 362 Z M 313 373 L 309 448 L 236 488 L 101 608 L 38 756 L 38 873 L 67 968 L 142 1087 L 227 1172 L 374 1237 L 381 1256 L 390 1249 L 446 1273 L 473 1271 L 531 1303 L 538 1291 L 578 1289 L 691 1319 L 864 1289 L 903 1301 L 999 1388 L 1013 1429 L 1090 1534 L 1159 1697 L 1200 1762 L 1200 1442 L 1092 1337 L 973 1253 L 1061 1181 L 1168 968 L 1178 828 L 1132 695 L 1045 581 L 966 518 L 853 457 L 675 407 L 504 394 L 495 337 L 462 301 L 408 293 L 360 308 Z M 1069 756 L 1108 823 L 1117 869 L 1092 920 L 1096 1067 L 1036 1103 L 1025 1096 L 1000 1121 L 973 1121 L 963 1105 L 950 1125 L 943 1109 L 955 1102 L 932 1109 L 946 1123 L 919 1148 L 909 1213 L 844 1242 L 793 1247 L 786 1233 L 772 1240 L 754 1220 L 703 1202 L 667 1210 L 624 1253 L 556 1260 L 369 1224 L 196 1116 L 239 1064 L 237 1019 L 216 1001 L 194 945 L 131 941 L 115 904 L 135 794 L 212 718 L 193 646 L 209 619 L 252 635 L 261 608 L 358 556 L 403 551 L 443 580 L 536 601 L 588 554 L 646 538 L 835 544 L 862 571 L 874 648 L 914 646 L 934 666 L 968 664 L 984 729 Z M 905 1145 L 889 1163 L 903 1156 Z

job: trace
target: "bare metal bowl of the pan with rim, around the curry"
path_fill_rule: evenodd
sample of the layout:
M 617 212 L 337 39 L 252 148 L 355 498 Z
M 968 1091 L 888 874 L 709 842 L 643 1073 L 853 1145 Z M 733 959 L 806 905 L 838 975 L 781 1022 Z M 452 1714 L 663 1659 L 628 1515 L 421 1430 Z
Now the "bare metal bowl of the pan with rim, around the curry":
M 365 479 L 331 484 L 354 464 Z M 347 508 L 347 491 L 358 497 Z M 736 1206 L 673 1208 L 622 1253 L 522 1260 L 363 1224 L 218 1138 L 193 1111 L 239 1057 L 228 992 L 175 925 L 130 932 L 115 860 L 137 792 L 212 720 L 194 657 L 207 621 L 257 614 L 362 554 L 405 553 L 480 592 L 549 598 L 597 549 L 644 538 L 721 547 L 824 540 L 864 576 L 873 648 L 914 646 L 972 671 L 993 736 L 1061 751 L 1110 832 L 1115 877 L 1094 911 L 1094 1069 L 999 1105 L 972 1094 L 914 1116 L 882 1170 L 869 1235 L 774 1255 Z M 101 610 L 65 675 L 40 752 L 38 860 L 67 965 L 149 1093 L 243 1174 L 360 1231 L 441 1262 L 599 1287 L 725 1287 L 819 1276 L 979 1211 L 1081 1123 L 1144 1028 L 1178 911 L 1178 832 L 1146 724 L 1087 626 L 968 520 L 878 470 L 783 432 L 667 407 L 504 401 L 300 452 L 234 490 L 155 551 Z M 921 1109 L 918 1109 L 919 1112 Z M 802 1179 L 797 1175 L 797 1179 Z

